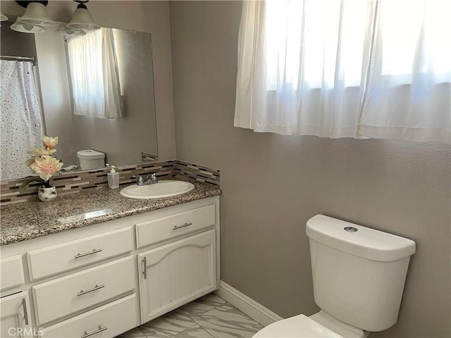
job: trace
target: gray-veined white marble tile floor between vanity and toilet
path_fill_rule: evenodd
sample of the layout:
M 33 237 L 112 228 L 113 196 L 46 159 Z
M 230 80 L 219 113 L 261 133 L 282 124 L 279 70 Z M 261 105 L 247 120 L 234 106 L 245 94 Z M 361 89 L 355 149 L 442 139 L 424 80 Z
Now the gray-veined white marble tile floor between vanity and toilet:
M 207 294 L 116 338 L 250 338 L 262 328 L 216 294 Z

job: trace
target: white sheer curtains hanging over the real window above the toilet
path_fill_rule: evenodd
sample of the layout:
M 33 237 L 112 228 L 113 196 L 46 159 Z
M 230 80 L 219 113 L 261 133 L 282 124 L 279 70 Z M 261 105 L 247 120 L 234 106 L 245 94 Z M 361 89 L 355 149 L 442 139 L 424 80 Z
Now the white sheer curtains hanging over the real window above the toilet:
M 450 3 L 245 1 L 236 127 L 450 143 Z

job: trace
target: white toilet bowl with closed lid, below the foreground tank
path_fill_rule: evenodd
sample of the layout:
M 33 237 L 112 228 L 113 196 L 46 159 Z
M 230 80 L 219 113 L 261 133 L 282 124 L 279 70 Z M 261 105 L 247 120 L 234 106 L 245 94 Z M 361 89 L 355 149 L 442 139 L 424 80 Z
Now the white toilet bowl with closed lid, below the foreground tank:
M 253 338 L 366 338 L 368 334 L 319 311 L 309 317 L 295 315 L 278 320 L 254 334 Z

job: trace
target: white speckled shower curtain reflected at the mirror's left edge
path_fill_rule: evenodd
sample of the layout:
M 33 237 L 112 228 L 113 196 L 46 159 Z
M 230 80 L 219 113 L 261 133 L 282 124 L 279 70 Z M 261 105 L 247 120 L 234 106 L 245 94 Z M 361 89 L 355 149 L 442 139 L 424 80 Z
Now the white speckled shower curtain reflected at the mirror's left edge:
M 42 146 L 42 117 L 33 65 L 0 60 L 1 181 L 30 176 L 27 151 Z

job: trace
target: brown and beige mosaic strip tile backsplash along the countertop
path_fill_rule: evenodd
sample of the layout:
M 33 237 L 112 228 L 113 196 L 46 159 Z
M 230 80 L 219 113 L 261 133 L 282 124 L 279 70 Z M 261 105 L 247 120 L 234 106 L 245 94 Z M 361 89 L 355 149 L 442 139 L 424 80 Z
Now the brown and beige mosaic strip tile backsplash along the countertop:
M 135 182 L 133 175 L 150 175 L 152 173 L 156 173 L 159 178 L 171 178 L 180 175 L 188 180 L 195 180 L 215 187 L 219 187 L 220 179 L 219 170 L 178 160 L 121 165 L 117 167 L 116 171 L 119 173 L 121 185 Z M 63 173 L 52 177 L 50 183 L 56 187 L 58 196 L 78 194 L 87 189 L 104 189 L 108 187 L 106 178 L 106 173 L 108 172 L 109 168 L 102 168 L 76 173 Z M 30 177 L 20 180 L 1 181 L 0 205 L 37 201 L 37 189 L 42 183 L 32 182 L 22 187 L 27 180 L 30 180 Z

